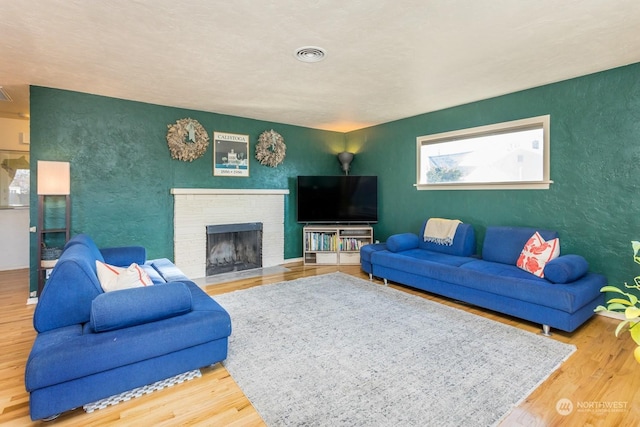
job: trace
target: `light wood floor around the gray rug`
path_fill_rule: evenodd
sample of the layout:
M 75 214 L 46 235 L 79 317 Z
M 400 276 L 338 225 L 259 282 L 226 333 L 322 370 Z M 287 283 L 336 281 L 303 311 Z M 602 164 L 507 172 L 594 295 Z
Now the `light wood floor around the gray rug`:
M 210 295 L 262 284 L 292 280 L 338 270 L 337 267 L 287 265 L 289 272 L 206 287 Z M 340 271 L 367 278 L 355 267 Z M 376 283 L 380 283 L 376 281 Z M 538 332 L 538 325 L 498 315 L 391 285 L 397 289 L 461 308 L 515 327 Z M 28 426 L 29 396 L 24 389 L 24 368 L 35 338 L 34 306 L 26 305 L 28 271 L 0 272 L 0 424 Z M 594 316 L 573 334 L 555 331 L 550 339 L 574 344 L 577 351 L 541 384 L 502 426 L 637 426 L 640 425 L 640 364 L 628 336 L 616 339 L 614 319 Z M 513 357 L 518 357 L 514 354 Z M 129 402 L 86 414 L 82 409 L 64 413 L 48 425 L 140 425 L 140 426 L 263 426 L 251 403 L 217 364 L 202 370 L 202 377 L 145 395 Z M 518 381 L 514 378 L 513 381 Z M 508 385 L 506 385 L 508 386 Z M 573 411 L 556 411 L 560 399 L 570 399 Z M 460 402 L 461 405 L 464 402 Z

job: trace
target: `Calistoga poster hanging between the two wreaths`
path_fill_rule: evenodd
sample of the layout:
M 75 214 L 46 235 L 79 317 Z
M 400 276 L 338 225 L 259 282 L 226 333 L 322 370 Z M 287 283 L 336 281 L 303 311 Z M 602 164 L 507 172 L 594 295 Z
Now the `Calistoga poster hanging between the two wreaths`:
M 249 135 L 213 133 L 213 175 L 249 176 Z

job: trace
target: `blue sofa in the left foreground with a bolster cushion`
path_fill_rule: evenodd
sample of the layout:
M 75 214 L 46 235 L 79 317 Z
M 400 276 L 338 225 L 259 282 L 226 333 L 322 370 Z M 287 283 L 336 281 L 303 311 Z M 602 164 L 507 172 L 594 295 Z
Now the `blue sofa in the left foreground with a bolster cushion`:
M 105 293 L 96 260 L 137 263 L 154 285 Z M 99 250 L 87 235 L 66 244 L 33 325 L 33 420 L 220 362 L 231 334 L 228 313 L 169 260 L 147 261 L 139 246 Z

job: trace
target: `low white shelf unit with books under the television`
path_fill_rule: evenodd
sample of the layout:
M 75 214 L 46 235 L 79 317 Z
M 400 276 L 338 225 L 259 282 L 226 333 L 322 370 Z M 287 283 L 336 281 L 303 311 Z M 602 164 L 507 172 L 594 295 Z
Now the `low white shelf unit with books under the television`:
M 305 265 L 358 265 L 360 248 L 373 243 L 367 225 L 307 225 L 303 228 Z

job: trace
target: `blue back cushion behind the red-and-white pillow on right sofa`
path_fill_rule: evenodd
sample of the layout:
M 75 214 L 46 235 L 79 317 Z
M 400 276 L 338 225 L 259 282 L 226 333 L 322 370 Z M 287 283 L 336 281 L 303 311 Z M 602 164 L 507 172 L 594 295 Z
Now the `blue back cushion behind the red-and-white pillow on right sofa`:
M 539 232 L 543 239 L 551 240 L 558 233 L 550 230 L 539 230 L 528 227 L 490 226 L 482 244 L 482 259 L 502 264 L 516 265 L 522 248 L 533 233 Z

